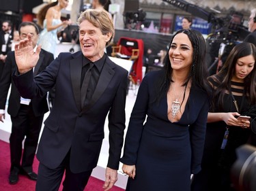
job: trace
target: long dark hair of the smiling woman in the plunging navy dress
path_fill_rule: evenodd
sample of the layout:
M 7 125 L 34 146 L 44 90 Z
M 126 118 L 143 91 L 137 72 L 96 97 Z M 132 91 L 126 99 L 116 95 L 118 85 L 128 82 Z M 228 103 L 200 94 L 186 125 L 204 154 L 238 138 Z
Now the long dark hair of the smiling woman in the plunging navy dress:
M 197 86 L 205 90 L 206 92 L 208 92 L 208 88 L 209 88 L 208 81 L 207 81 L 208 71 L 206 69 L 206 64 L 205 64 L 205 54 L 206 54 L 205 39 L 203 38 L 203 35 L 201 35 L 199 31 L 195 31 L 193 29 L 182 29 L 177 31 L 175 35 L 173 35 L 170 45 L 173 42 L 173 38 L 179 33 L 184 33 L 188 35 L 188 39 L 190 40 L 193 46 L 193 60 L 190 68 L 190 73 L 186 78 L 184 86 L 187 86 L 188 82 L 191 81 L 192 86 Z M 169 46 L 169 50 L 170 48 L 171 46 Z M 158 90 L 158 93 L 155 101 L 159 101 L 165 94 L 167 94 L 167 91 L 169 90 L 169 86 L 171 82 L 173 82 L 172 80 L 173 69 L 171 67 L 171 61 L 169 58 L 169 50 L 164 60 L 165 76 L 156 82 L 156 87 L 157 87 L 156 90 Z

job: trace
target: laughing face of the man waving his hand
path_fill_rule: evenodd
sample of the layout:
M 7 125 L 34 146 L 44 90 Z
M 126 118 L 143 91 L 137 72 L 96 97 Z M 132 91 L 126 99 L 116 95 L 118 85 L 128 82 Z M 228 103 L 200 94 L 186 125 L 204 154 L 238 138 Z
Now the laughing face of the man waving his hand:
M 102 58 L 106 42 L 111 39 L 111 33 L 103 35 L 98 27 L 88 20 L 80 24 L 79 41 L 83 55 L 92 62 Z

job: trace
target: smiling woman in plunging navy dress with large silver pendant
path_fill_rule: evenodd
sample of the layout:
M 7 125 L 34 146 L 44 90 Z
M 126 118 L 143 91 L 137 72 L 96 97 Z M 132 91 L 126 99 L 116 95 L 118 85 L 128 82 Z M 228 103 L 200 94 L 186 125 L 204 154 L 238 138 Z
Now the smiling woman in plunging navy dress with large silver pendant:
M 162 71 L 147 73 L 139 87 L 126 143 L 126 190 L 188 191 L 201 169 L 209 109 L 205 39 L 198 31 L 173 35 Z

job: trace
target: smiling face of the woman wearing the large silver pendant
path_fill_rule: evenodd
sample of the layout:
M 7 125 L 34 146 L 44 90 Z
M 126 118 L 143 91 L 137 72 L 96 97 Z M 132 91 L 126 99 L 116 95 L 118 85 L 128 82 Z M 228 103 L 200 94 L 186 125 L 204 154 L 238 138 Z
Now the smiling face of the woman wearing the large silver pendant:
M 193 46 L 185 33 L 175 35 L 169 49 L 173 70 L 190 70 L 193 61 Z

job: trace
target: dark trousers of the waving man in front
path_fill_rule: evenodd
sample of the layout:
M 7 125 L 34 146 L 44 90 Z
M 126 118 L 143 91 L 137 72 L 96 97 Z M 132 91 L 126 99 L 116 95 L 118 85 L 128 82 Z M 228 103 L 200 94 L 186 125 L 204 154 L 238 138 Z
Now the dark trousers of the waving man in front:
M 83 173 L 72 173 L 70 171 L 70 152 L 68 152 L 64 160 L 56 169 L 49 169 L 40 162 L 35 190 L 58 191 L 64 171 L 65 179 L 63 181 L 63 191 L 83 191 L 91 176 L 92 170 Z

